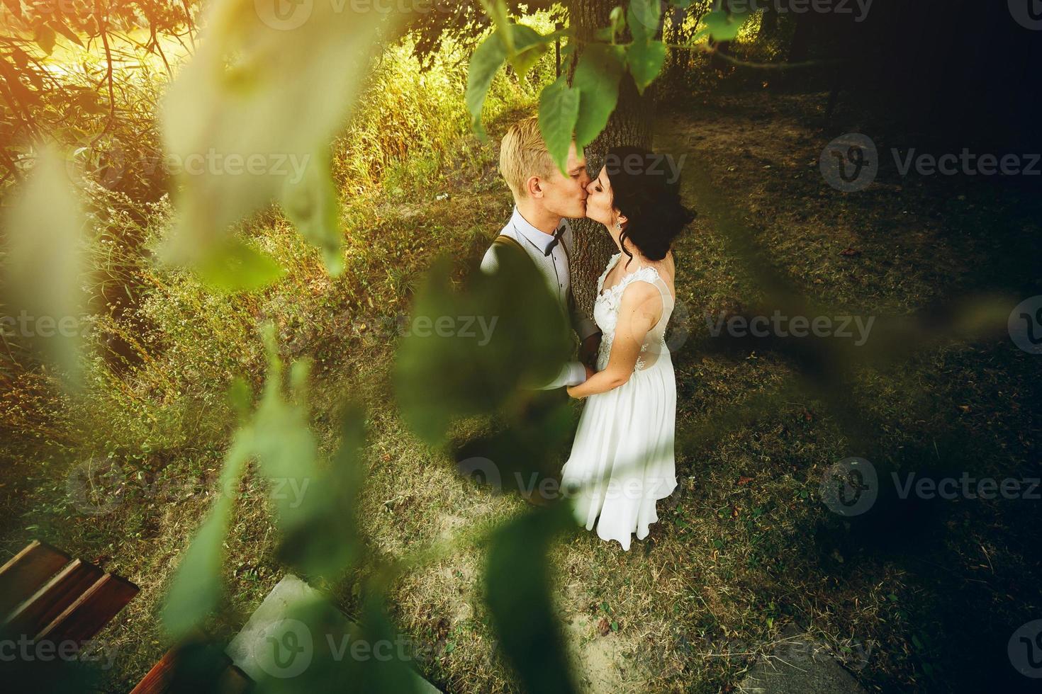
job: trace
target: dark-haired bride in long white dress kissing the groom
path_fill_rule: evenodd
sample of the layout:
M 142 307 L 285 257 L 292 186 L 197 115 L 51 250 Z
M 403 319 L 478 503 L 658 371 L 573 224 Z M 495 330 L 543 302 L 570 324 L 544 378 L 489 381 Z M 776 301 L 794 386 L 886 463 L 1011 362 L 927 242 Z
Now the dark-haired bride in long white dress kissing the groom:
M 616 148 L 588 187 L 587 217 L 619 253 L 600 279 L 593 317 L 603 332 L 597 372 L 568 394 L 588 399 L 562 469 L 578 522 L 629 549 L 659 520 L 655 502 L 676 487 L 676 382 L 664 335 L 675 302 L 673 238 L 693 213 L 661 156 Z M 599 516 L 599 522 L 597 518 Z

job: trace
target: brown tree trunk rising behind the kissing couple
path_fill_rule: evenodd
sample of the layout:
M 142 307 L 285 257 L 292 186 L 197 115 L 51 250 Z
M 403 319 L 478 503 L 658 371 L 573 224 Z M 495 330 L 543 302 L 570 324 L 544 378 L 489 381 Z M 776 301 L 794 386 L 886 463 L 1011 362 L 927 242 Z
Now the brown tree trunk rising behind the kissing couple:
M 575 28 L 579 46 L 593 41 L 597 29 L 609 25 L 609 15 L 615 2 L 611 0 L 569 0 L 569 21 Z M 654 104 L 653 87 L 641 96 L 628 73 L 623 75 L 619 88 L 619 104 L 609 119 L 604 132 L 586 148 L 590 175 L 595 176 L 604 163 L 604 156 L 612 147 L 644 147 L 651 149 L 651 113 Z M 607 259 L 617 249 L 603 225 L 590 220 L 575 220 L 575 251 L 571 258 L 572 293 L 578 306 L 589 315 L 597 294 L 597 278 L 604 272 Z

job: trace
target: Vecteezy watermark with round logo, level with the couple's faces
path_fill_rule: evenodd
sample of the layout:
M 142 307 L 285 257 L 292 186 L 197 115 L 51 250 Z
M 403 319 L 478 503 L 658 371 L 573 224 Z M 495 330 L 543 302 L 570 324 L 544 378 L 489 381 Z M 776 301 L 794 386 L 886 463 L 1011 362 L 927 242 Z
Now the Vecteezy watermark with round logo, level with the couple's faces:
M 963 148 L 959 154 L 916 154 L 911 148 L 902 154 L 896 147 L 890 155 L 900 176 L 915 171 L 920 176 L 1039 176 L 1042 154 L 991 154 L 970 152 Z M 821 175 L 837 190 L 854 192 L 864 190 L 875 180 L 879 171 L 879 154 L 875 143 L 859 132 L 840 135 L 821 151 L 818 161 Z

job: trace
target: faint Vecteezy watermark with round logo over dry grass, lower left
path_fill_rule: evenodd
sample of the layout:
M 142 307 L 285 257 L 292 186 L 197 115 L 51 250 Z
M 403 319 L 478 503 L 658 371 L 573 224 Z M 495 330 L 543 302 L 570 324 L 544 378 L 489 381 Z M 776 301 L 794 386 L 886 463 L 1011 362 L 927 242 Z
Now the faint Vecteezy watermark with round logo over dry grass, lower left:
M 289 502 L 289 508 L 297 509 L 304 503 L 312 480 L 268 478 L 265 482 L 270 498 Z M 149 482 L 143 474 L 128 474 L 113 457 L 93 457 L 75 466 L 66 477 L 66 491 L 73 508 L 88 516 L 114 512 L 132 493 L 153 500 L 183 500 L 206 493 L 240 495 L 237 489 L 210 489 L 194 480 L 170 478 Z

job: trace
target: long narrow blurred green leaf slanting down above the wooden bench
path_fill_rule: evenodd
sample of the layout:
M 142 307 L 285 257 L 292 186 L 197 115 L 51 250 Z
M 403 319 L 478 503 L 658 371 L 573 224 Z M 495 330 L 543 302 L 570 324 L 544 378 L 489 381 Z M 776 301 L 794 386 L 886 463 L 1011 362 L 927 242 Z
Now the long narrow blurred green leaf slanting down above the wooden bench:
M 220 603 L 224 537 L 251 443 L 248 429 L 237 432 L 221 470 L 221 495 L 174 573 L 163 607 L 163 624 L 174 641 L 198 627 Z

